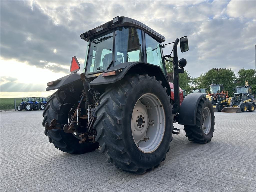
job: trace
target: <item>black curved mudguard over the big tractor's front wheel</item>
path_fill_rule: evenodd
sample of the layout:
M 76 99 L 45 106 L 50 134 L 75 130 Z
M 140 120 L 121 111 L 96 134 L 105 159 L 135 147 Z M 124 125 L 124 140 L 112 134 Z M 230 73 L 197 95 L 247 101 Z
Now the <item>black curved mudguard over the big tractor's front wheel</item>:
M 206 100 L 205 95 L 206 93 L 190 93 L 184 98 L 179 110 L 178 124 L 192 126 L 196 124 L 197 106 L 201 98 Z

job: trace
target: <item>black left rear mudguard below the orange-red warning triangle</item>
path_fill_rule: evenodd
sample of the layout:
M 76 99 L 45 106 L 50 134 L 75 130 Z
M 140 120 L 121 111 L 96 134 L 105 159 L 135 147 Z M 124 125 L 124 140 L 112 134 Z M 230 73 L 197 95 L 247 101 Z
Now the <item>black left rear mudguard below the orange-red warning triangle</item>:
M 54 89 L 60 89 L 62 87 L 68 86 L 74 82 L 81 81 L 80 74 L 78 73 L 72 73 L 69 75 L 66 75 L 64 77 L 61 77 L 54 82 L 53 85 L 50 85 L 46 88 L 46 91 L 54 90 Z

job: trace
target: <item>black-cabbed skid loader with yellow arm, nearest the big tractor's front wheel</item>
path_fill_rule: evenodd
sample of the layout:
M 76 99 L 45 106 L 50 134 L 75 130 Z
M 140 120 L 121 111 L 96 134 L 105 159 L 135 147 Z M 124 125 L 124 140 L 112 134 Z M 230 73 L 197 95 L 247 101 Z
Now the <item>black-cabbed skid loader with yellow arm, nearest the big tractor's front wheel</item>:
M 212 94 L 211 95 L 211 104 L 214 109 L 214 112 L 221 111 L 224 107 L 230 105 L 231 98 L 226 98 L 225 94 Z

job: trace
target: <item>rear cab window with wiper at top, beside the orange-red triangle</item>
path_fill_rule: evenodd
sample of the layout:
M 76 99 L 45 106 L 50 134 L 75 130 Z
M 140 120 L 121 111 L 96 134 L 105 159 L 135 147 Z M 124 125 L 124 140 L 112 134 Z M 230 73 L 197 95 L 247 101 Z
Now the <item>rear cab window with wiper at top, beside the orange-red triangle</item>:
M 113 36 L 112 30 L 91 39 L 86 74 L 106 70 L 113 61 Z

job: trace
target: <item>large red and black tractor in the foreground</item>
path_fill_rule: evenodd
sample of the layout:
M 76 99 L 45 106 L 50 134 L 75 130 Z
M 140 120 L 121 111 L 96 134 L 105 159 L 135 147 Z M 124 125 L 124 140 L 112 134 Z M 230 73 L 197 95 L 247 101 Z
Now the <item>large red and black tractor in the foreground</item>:
M 180 104 L 179 73 L 187 62 L 178 59 L 177 46 L 188 51 L 187 36 L 162 44 L 165 37 L 153 29 L 117 16 L 80 37 L 87 44 L 83 72 L 77 73 L 73 57 L 71 74 L 47 83 L 46 91 L 57 91 L 42 125 L 57 149 L 82 154 L 100 145 L 108 163 L 143 174 L 165 160 L 172 134 L 179 134 L 176 122 L 189 141 L 211 141 L 215 117 L 206 94 L 188 94 Z M 169 44 L 172 51 L 164 56 Z M 173 105 L 165 60 L 174 66 Z

